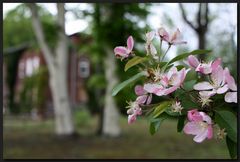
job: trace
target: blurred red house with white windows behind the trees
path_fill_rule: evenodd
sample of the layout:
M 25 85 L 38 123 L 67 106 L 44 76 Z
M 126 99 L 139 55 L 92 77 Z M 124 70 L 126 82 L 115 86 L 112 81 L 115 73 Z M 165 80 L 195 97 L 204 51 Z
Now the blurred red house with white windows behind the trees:
M 85 44 L 90 42 L 90 38 L 81 38 L 79 34 L 73 34 L 69 36 L 74 46 Z M 68 93 L 71 106 L 78 106 L 85 104 L 88 101 L 88 95 L 86 91 L 86 79 L 90 75 L 90 62 L 87 54 L 76 52 L 71 49 L 69 51 L 69 63 L 68 63 Z M 46 61 L 41 51 L 30 50 L 26 48 L 20 56 L 18 61 L 17 76 L 15 82 L 15 102 L 20 102 L 19 94 L 23 89 L 23 81 L 25 77 L 30 77 L 40 67 L 46 66 Z M 9 74 L 6 74 L 9 75 Z M 48 76 L 47 76 L 48 77 Z M 51 96 L 51 90 L 49 82 L 46 85 L 44 92 L 46 100 L 44 101 L 44 107 L 47 110 L 47 115 L 52 115 L 53 101 Z

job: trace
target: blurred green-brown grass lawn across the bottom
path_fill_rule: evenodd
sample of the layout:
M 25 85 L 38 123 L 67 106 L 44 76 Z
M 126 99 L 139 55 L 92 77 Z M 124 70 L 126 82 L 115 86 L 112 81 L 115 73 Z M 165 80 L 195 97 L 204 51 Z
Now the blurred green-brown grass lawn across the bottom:
M 121 118 L 122 134 L 117 138 L 95 136 L 97 118 L 78 127 L 80 136 L 59 139 L 52 120 L 36 122 L 4 118 L 4 159 L 229 159 L 225 141 L 195 143 L 193 136 L 177 133 L 176 122 L 166 120 L 153 136 L 146 119 L 132 125 Z

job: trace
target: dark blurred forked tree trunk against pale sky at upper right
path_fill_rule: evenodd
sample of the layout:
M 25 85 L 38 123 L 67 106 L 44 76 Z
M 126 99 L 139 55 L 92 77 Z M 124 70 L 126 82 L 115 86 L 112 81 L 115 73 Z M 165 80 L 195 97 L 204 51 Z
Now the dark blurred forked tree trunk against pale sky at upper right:
M 198 48 L 205 49 L 206 45 L 206 33 L 209 26 L 209 9 L 208 3 L 199 3 L 198 12 L 196 15 L 196 24 L 190 22 L 187 18 L 187 13 L 183 7 L 182 3 L 179 3 L 179 7 L 182 13 L 184 21 L 196 32 L 198 36 Z M 199 55 L 201 60 L 204 60 L 205 55 Z

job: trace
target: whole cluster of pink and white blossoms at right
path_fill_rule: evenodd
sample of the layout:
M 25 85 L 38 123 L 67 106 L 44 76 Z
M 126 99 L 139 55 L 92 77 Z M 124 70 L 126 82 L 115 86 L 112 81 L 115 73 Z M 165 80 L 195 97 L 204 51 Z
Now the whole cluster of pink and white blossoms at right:
M 153 43 L 155 38 L 160 40 L 159 52 Z M 229 69 L 227 67 L 222 67 L 221 58 L 217 58 L 210 62 L 204 62 L 203 60 L 198 60 L 197 57 L 191 53 L 184 58 L 187 66 L 182 68 L 178 68 L 174 64 L 168 66 L 168 64 L 166 64 L 167 62 L 164 62 L 164 57 L 169 49 L 173 45 L 187 43 L 182 40 L 179 29 L 170 35 L 161 27 L 156 31 L 146 33 L 145 40 L 146 58 L 150 60 L 150 63 L 145 63 L 145 69 L 140 70 L 145 70 L 148 74 L 146 75 L 143 85 L 135 86 L 137 98 L 135 101 L 130 101 L 129 106 L 127 106 L 128 123 L 133 123 L 136 121 L 137 116 L 143 114 L 143 107 L 151 107 L 153 96 L 169 96 L 171 101 L 173 101 L 171 105 L 172 112 L 182 115 L 182 110 L 186 109 L 188 122 L 185 124 L 183 131 L 186 134 L 195 135 L 193 140 L 198 143 L 205 139 L 211 139 L 213 137 L 213 125 L 215 122 L 211 118 L 210 113 L 205 111 L 204 108 L 209 106 L 210 102 L 213 102 L 213 96 L 215 95 L 224 94 L 224 101 L 226 103 L 237 103 L 237 85 Z M 168 45 L 164 53 L 161 52 L 163 42 L 166 42 Z M 129 36 L 127 39 L 127 46 L 117 46 L 114 48 L 114 53 L 115 56 L 122 61 L 129 60 L 135 56 L 133 49 L 134 39 L 132 36 Z M 160 66 L 161 63 L 165 63 L 164 65 L 166 66 Z M 183 84 L 187 74 L 191 70 L 205 79 L 193 85 L 193 91 L 198 95 L 201 107 L 183 107 L 181 101 L 173 95 L 179 89 L 184 90 Z

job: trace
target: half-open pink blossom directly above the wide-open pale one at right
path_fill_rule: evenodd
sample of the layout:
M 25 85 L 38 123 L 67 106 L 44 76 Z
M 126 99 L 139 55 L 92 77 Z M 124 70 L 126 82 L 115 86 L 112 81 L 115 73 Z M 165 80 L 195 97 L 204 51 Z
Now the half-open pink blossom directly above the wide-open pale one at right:
M 209 63 L 200 63 L 199 60 L 193 55 L 189 55 L 187 61 L 189 66 L 195 68 L 195 71 L 200 72 L 202 74 L 212 73 L 212 71 L 215 70 L 221 64 L 220 58 L 216 59 L 214 62 L 211 61 Z

